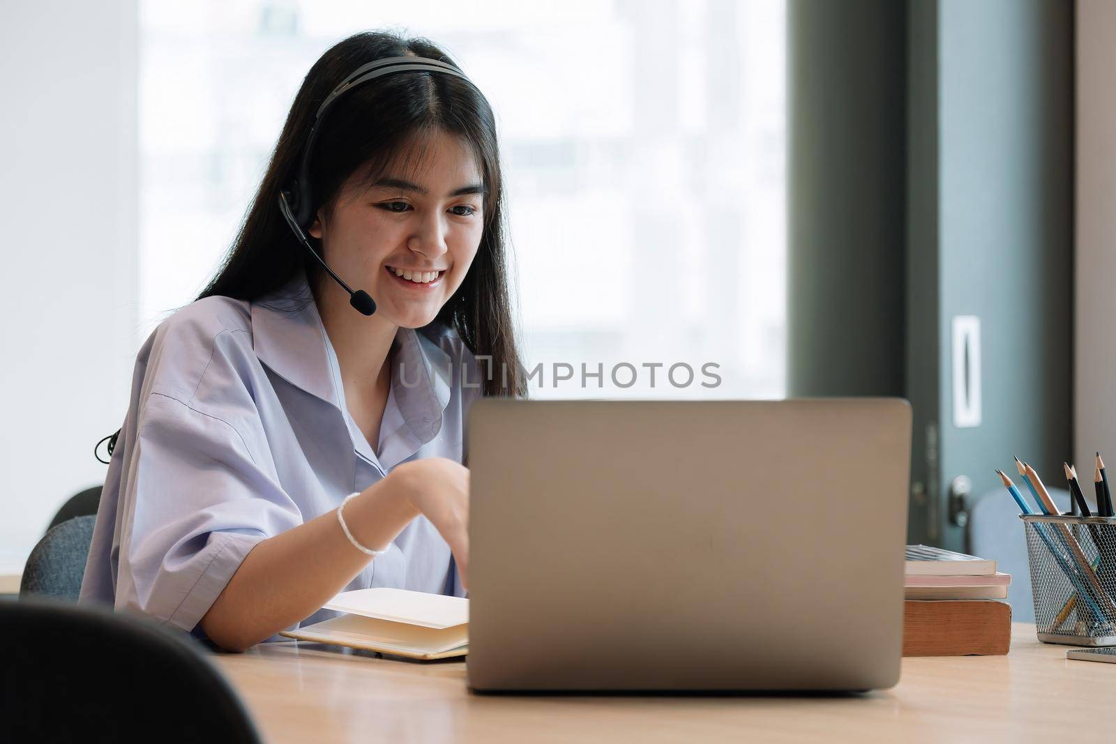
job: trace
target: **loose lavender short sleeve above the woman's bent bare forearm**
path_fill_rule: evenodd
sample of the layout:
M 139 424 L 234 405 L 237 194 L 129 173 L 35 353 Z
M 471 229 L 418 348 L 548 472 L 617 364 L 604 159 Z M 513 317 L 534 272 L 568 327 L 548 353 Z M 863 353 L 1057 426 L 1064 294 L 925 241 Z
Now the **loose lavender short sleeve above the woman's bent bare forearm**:
M 121 483 L 118 609 L 192 631 L 257 543 L 302 523 L 231 413 L 147 397 Z

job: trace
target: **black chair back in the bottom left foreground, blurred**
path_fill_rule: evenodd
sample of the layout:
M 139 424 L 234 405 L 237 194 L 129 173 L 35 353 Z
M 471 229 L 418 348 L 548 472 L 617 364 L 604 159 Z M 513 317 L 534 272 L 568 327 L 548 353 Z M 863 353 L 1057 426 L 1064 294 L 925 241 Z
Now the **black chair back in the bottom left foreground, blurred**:
M 105 608 L 0 602 L 0 731 L 11 742 L 247 742 L 235 692 L 185 634 Z

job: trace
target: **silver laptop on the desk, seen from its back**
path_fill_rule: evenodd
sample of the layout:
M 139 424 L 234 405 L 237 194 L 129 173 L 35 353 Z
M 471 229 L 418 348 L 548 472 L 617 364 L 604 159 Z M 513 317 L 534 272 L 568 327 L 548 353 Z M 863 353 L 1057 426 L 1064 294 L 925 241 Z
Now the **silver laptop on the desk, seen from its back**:
M 898 680 L 899 399 L 481 399 L 474 690 L 866 690 Z

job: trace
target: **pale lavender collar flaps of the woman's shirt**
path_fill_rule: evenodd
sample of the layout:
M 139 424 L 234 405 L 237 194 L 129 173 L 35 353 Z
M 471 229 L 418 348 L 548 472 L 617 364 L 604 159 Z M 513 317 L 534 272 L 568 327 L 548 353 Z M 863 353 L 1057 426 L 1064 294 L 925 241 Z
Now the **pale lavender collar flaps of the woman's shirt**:
M 251 303 L 252 348 L 261 363 L 291 385 L 343 410 L 336 355 L 301 272 L 287 286 Z M 424 334 L 400 328 L 388 356 L 392 394 L 420 444 L 442 428 L 450 402 L 452 358 Z

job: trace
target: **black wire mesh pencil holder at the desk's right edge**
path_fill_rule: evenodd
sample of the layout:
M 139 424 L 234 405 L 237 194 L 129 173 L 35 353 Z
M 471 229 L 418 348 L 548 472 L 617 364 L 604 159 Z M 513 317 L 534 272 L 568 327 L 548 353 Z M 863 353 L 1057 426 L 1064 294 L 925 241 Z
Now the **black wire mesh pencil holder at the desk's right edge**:
M 1020 519 L 1039 640 L 1116 646 L 1116 518 Z

